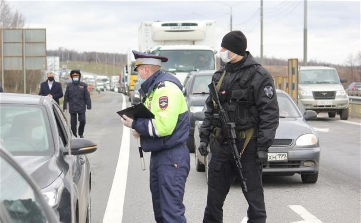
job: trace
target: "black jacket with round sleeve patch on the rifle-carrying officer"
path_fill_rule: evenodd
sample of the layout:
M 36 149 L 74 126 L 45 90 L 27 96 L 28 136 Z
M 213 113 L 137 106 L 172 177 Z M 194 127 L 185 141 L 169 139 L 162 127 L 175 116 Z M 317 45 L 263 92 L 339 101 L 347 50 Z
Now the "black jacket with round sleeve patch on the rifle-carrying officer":
M 217 84 L 223 71 L 226 71 L 226 75 L 218 95 L 230 121 L 236 123 L 237 131 L 255 127 L 257 150 L 267 151 L 273 144 L 279 119 L 277 95 L 271 75 L 248 51 L 241 61 L 228 63 L 216 71 L 212 81 Z M 222 126 L 219 120 L 213 118 L 213 114 L 218 112 L 211 95 L 206 100 L 206 106 L 199 135 L 201 141 L 208 143 L 213 128 Z

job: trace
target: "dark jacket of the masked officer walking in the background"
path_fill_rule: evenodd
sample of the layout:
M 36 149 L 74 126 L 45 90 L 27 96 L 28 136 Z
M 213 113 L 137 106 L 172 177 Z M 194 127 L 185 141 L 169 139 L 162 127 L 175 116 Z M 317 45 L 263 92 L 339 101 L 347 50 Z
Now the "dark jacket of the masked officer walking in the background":
M 85 105 L 91 109 L 88 86 L 84 82 L 69 83 L 65 90 L 63 110 L 66 109 L 66 103 L 69 103 L 69 113 L 84 113 Z

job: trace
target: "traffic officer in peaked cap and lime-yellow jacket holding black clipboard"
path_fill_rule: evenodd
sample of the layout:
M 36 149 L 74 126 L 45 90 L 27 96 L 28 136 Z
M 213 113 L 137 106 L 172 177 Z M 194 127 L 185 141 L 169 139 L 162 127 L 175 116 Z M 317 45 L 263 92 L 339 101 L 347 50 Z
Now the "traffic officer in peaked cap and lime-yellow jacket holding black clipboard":
M 144 105 L 154 119 L 131 119 L 123 115 L 122 122 L 140 136 L 145 152 L 151 153 L 150 189 L 157 222 L 186 222 L 183 205 L 184 188 L 190 170 L 189 118 L 182 84 L 175 76 L 160 70 L 166 57 L 132 51 L 135 71 L 145 80 L 139 92 Z

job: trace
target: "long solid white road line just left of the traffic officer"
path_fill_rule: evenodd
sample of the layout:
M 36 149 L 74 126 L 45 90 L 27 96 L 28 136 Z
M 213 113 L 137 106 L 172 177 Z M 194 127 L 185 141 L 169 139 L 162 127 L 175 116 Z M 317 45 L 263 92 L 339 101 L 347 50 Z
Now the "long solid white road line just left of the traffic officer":
M 126 106 L 126 99 L 122 95 L 122 108 Z M 120 120 L 119 120 L 120 122 Z M 119 123 L 121 124 L 121 123 Z M 106 205 L 103 222 L 122 222 L 125 189 L 127 185 L 128 163 L 130 147 L 130 129 L 123 126 L 122 142 L 119 151 L 118 163 L 114 174 L 112 189 Z

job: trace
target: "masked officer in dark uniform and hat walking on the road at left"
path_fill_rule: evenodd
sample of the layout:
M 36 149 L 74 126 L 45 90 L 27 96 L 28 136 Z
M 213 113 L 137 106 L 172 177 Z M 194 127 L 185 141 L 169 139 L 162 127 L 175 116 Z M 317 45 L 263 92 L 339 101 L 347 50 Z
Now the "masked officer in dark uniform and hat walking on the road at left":
M 81 82 L 80 70 L 70 71 L 72 82 L 66 86 L 63 110 L 66 110 L 66 104 L 69 103 L 70 126 L 75 137 L 77 136 L 77 115 L 79 120 L 79 137 L 84 138 L 85 112 L 91 109 L 90 94 L 86 83 Z

